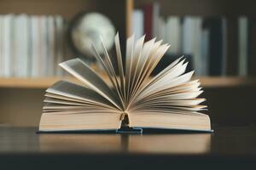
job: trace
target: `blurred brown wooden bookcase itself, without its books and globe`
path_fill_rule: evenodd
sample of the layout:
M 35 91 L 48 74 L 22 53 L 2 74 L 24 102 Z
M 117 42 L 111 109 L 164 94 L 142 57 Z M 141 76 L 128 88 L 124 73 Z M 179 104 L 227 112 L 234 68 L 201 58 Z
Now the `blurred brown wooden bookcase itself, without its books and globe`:
M 241 14 L 254 17 L 256 12 L 253 0 L 233 2 L 212 0 L 158 0 L 161 5 L 161 13 L 164 15 L 184 14 L 191 15 L 226 15 L 234 18 Z M 0 14 L 60 14 L 67 20 L 71 20 L 80 11 L 98 11 L 106 14 L 112 21 L 121 39 L 131 35 L 131 14 L 133 8 L 138 8 L 143 3 L 152 3 L 153 0 L 9 0 L 0 1 Z M 124 42 L 123 42 L 124 43 Z M 232 47 L 230 47 L 232 49 Z M 235 50 L 233 54 L 235 53 Z M 230 56 L 230 55 L 229 55 Z M 234 59 L 230 59 L 232 62 Z M 236 64 L 236 59 L 235 59 Z M 233 65 L 234 63 L 230 63 Z M 210 115 L 213 122 L 228 122 L 226 115 L 233 113 L 234 122 L 239 122 L 242 108 L 247 107 L 247 112 L 253 112 L 253 103 L 248 99 L 253 98 L 256 88 L 256 77 L 194 77 L 201 79 L 201 84 L 206 89 Z M 37 77 L 18 78 L 0 77 L 0 124 L 7 123 L 15 126 L 38 126 L 41 116 L 44 90 L 63 77 Z M 65 77 L 70 81 L 74 78 Z M 227 89 L 224 91 L 224 89 Z M 243 96 L 237 99 L 238 95 Z M 227 107 L 219 102 L 226 102 Z M 252 105 L 252 106 L 250 106 Z M 247 114 L 243 115 L 244 117 Z M 254 117 L 254 116 L 253 116 Z M 255 117 L 254 117 L 255 118 Z M 255 120 L 252 118 L 252 120 Z

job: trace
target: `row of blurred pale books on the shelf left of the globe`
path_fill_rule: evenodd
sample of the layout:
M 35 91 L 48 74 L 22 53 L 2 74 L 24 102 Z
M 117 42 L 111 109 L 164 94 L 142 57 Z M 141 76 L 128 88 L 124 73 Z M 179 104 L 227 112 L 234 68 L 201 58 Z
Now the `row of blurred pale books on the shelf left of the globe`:
M 0 77 L 61 76 L 66 26 L 59 15 L 0 15 Z

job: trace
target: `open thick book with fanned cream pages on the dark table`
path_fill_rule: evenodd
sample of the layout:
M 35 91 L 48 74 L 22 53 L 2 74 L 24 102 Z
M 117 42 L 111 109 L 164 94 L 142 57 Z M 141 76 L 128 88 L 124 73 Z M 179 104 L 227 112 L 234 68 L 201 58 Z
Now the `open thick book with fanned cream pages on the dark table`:
M 98 131 L 131 128 L 176 129 L 211 132 L 209 116 L 200 113 L 205 99 L 194 71 L 185 72 L 183 57 L 155 77 L 151 72 L 169 48 L 155 38 L 144 42 L 134 36 L 126 42 L 125 65 L 119 34 L 114 38 L 115 55 L 102 47 L 92 51 L 107 77 L 102 77 L 81 59 L 60 66 L 82 85 L 60 81 L 46 90 L 40 132 Z M 100 55 L 97 48 L 104 49 Z

